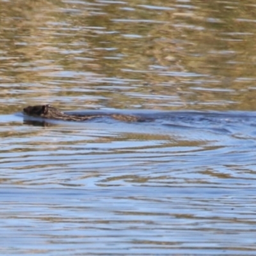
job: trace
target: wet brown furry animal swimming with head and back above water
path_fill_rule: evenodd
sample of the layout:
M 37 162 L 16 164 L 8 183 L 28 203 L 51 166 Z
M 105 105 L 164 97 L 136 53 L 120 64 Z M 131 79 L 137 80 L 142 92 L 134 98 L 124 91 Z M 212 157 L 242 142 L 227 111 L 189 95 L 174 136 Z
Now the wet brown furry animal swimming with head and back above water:
M 110 116 L 116 120 L 124 122 L 141 122 L 143 118 L 132 115 L 122 115 L 122 114 L 106 114 L 106 115 L 68 115 L 60 110 L 53 108 L 50 105 L 41 106 L 29 106 L 23 109 L 23 112 L 28 116 L 36 116 L 49 119 L 67 120 L 67 121 L 86 121 L 92 118 L 100 118 L 102 116 Z

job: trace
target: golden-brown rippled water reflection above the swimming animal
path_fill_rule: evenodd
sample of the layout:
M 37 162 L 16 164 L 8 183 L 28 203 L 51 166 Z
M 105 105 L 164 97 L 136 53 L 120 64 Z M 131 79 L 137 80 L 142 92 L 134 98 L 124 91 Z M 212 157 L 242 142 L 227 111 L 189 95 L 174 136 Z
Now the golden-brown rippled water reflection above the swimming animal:
M 2 112 L 254 110 L 255 11 L 253 1 L 0 1 Z

